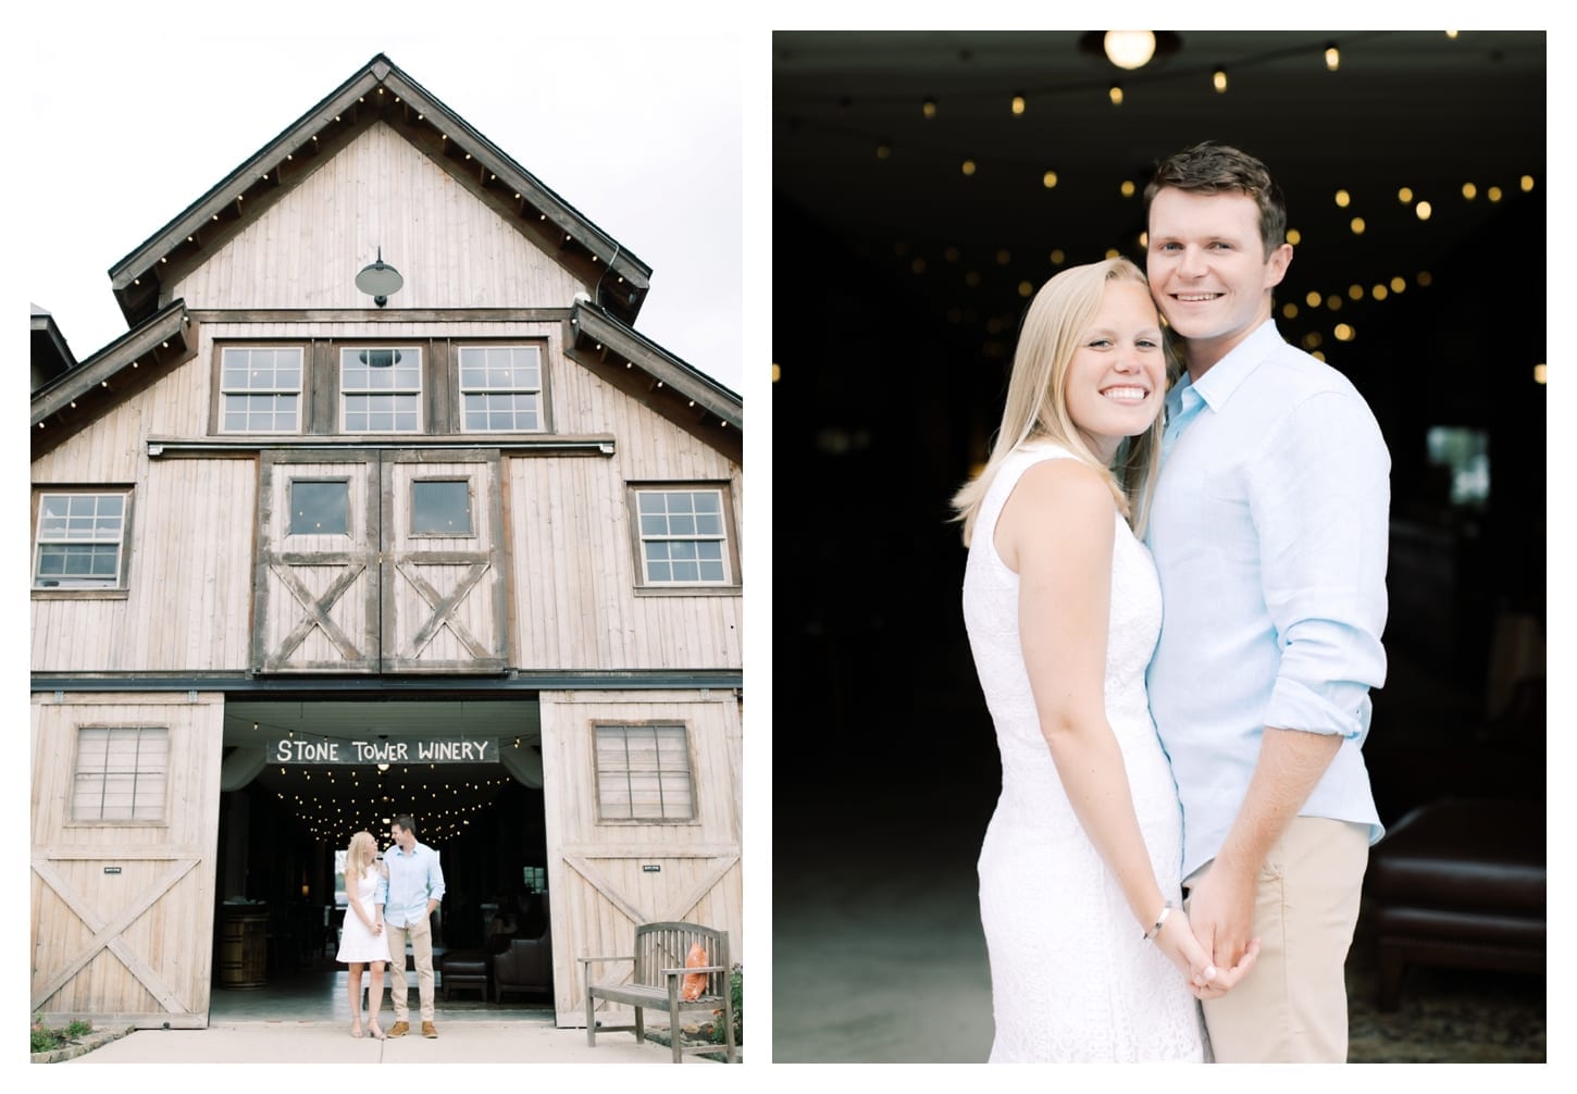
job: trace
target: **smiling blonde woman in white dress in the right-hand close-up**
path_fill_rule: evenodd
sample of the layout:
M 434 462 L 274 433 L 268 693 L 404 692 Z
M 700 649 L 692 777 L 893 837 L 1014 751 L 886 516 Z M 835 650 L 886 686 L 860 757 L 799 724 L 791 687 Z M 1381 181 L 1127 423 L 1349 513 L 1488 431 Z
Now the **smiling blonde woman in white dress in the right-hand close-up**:
M 1001 752 L 979 858 L 992 1062 L 1203 1061 L 1197 998 L 1257 954 L 1216 969 L 1189 930 L 1183 818 L 1145 697 L 1161 588 L 1135 530 L 1165 391 L 1139 268 L 1066 270 L 1030 304 L 995 448 L 954 497 Z

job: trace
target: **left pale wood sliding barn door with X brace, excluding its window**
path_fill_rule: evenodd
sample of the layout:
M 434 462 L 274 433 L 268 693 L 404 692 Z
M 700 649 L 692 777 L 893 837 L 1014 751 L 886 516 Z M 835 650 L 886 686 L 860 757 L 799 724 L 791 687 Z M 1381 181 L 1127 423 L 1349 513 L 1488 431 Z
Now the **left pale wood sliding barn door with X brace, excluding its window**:
M 207 1025 L 222 724 L 222 695 L 33 695 L 32 1012 Z M 71 820 L 82 725 L 169 728 L 164 823 Z

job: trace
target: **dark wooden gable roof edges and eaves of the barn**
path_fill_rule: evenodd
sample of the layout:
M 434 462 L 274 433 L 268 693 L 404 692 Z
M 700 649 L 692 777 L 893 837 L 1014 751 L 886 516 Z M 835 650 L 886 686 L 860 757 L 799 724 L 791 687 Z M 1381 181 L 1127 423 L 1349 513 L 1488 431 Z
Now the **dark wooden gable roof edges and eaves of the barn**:
M 385 123 L 585 287 L 568 311 L 566 350 L 664 416 L 738 456 L 740 396 L 636 333 L 651 268 L 473 129 L 383 54 L 334 88 L 109 274 L 131 329 L 84 361 L 49 312 L 33 311 L 35 452 L 82 429 L 104 407 L 196 353 L 185 301 L 161 287 L 207 262 L 356 136 Z M 483 309 L 511 318 L 514 309 Z M 538 309 L 541 311 L 541 309 Z M 563 317 L 560 309 L 554 317 Z M 547 312 L 544 312 L 546 315 Z M 200 317 L 199 317 L 200 318 Z M 63 352 L 63 353 L 62 353 Z M 41 370 L 43 369 L 43 370 Z

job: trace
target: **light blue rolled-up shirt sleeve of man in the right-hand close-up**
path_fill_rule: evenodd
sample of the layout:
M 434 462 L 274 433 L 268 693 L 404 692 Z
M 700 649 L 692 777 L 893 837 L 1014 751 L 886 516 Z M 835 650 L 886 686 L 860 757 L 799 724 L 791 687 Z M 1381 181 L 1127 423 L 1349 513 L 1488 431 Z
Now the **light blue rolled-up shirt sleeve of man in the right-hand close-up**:
M 1265 725 L 1361 738 L 1385 684 L 1391 456 L 1356 394 L 1298 402 L 1247 462 L 1281 668 Z

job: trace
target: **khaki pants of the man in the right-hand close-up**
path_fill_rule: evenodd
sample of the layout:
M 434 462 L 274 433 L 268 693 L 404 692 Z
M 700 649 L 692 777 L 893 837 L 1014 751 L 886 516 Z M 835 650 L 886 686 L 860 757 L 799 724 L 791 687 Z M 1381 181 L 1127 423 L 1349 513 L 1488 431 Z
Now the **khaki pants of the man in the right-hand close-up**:
M 1260 957 L 1225 996 L 1205 1003 L 1219 1064 L 1347 1061 L 1347 951 L 1369 865 L 1369 826 L 1296 817 L 1260 869 Z M 1183 883 L 1210 872 L 1210 864 Z

